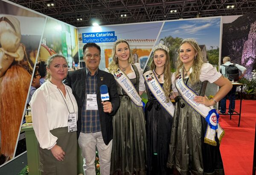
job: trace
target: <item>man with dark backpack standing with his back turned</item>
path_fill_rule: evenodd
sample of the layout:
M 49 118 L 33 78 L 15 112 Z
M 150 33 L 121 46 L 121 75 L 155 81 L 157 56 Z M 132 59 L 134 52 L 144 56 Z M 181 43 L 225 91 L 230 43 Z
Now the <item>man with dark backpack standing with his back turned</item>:
M 244 74 L 246 73 L 246 68 L 244 66 L 241 66 L 239 64 L 231 63 L 230 62 L 230 57 L 225 56 L 223 58 L 223 65 L 220 66 L 220 72 L 223 76 L 227 77 L 230 81 L 236 82 L 238 79 L 241 79 Z M 232 71 L 233 73 L 231 74 Z M 241 71 L 241 76 L 239 76 L 239 71 Z M 226 102 L 227 98 L 230 100 L 229 104 L 229 110 L 228 113 L 232 114 L 233 110 L 235 109 L 236 105 L 236 86 L 233 86 L 232 90 L 224 96 L 223 99 L 221 99 L 221 107 L 220 107 L 220 113 L 224 114 L 226 113 Z M 232 99 L 232 100 L 231 100 Z

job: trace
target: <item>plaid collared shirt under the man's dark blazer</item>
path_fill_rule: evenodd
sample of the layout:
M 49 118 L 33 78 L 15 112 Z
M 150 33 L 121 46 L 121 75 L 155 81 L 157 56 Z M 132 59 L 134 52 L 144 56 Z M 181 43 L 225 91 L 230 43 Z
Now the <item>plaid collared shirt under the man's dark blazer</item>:
M 97 79 L 98 79 L 98 70 L 91 76 L 91 72 L 86 69 L 86 93 L 84 104 L 82 107 L 82 122 L 81 122 L 81 132 L 82 133 L 96 133 L 101 131 L 100 120 L 99 120 L 99 111 L 98 110 L 86 110 L 86 97 L 87 94 L 96 94 L 97 90 Z

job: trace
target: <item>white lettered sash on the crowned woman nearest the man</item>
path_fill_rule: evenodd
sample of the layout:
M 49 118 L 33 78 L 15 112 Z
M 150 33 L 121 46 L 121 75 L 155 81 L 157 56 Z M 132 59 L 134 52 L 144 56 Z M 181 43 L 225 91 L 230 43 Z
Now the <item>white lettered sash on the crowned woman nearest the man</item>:
M 142 99 L 128 76 L 121 69 L 117 69 L 117 71 L 112 74 L 115 77 L 116 82 L 122 87 L 134 104 L 143 107 Z

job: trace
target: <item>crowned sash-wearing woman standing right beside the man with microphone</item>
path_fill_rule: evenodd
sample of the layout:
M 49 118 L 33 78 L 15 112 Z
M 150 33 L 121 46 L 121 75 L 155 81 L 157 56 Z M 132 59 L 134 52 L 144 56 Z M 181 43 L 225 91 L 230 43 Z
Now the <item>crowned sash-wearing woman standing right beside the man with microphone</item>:
M 117 40 L 112 53 L 113 61 L 105 71 L 114 75 L 121 101 L 113 116 L 111 175 L 145 175 L 146 131 L 140 98 L 145 91 L 143 70 L 139 63 L 132 64 L 131 49 L 125 40 Z

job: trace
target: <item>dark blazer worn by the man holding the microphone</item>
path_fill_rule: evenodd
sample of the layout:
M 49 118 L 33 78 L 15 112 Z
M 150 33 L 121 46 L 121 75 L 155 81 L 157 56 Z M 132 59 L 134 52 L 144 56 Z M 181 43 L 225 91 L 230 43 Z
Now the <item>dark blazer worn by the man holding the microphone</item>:
M 82 113 L 82 106 L 84 103 L 85 97 L 85 77 L 86 71 L 85 68 L 76 70 L 76 71 L 69 71 L 67 74 L 66 79 L 64 80 L 64 84 L 70 86 L 73 90 L 73 95 L 76 98 L 76 102 L 78 105 L 78 121 L 77 121 L 77 138 L 81 132 L 81 113 Z M 112 103 L 113 111 L 112 113 L 105 113 L 103 111 L 103 105 L 101 101 L 100 91 L 99 88 L 101 85 L 108 86 L 108 93 L 110 97 L 110 102 Z M 102 137 L 104 143 L 107 145 L 111 139 L 113 138 L 113 125 L 112 125 L 112 117 L 116 113 L 117 109 L 119 108 L 120 99 L 117 94 L 116 90 L 116 80 L 111 73 L 105 71 L 98 71 L 98 80 L 97 80 L 97 104 L 99 109 L 99 119 L 100 119 L 100 127 L 102 132 Z

